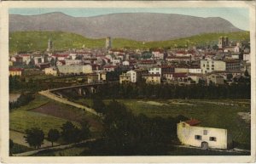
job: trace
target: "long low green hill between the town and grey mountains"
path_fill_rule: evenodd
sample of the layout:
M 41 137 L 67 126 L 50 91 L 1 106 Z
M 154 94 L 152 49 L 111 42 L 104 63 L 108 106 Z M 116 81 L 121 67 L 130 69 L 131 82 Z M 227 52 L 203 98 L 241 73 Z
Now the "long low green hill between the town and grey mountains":
M 189 45 L 213 44 L 218 42 L 218 37 L 226 36 L 231 41 L 248 40 L 249 32 L 211 33 L 193 37 L 180 38 L 160 42 L 138 42 L 122 38 L 113 39 L 113 48 L 167 48 L 183 47 Z M 55 50 L 68 48 L 104 48 L 105 39 L 90 39 L 78 34 L 62 31 L 16 31 L 9 34 L 9 52 L 44 51 L 48 39 L 54 42 Z

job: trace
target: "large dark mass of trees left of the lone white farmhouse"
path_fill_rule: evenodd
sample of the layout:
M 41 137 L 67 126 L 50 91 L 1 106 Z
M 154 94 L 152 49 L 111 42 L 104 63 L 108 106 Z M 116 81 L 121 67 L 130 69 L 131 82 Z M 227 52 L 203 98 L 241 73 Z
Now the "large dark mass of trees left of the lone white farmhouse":
M 84 153 L 91 156 L 166 155 L 178 143 L 177 122 L 188 120 L 184 116 L 136 116 L 124 104 L 112 100 L 105 105 L 100 97 L 93 99 L 92 107 L 102 113 L 103 132 Z

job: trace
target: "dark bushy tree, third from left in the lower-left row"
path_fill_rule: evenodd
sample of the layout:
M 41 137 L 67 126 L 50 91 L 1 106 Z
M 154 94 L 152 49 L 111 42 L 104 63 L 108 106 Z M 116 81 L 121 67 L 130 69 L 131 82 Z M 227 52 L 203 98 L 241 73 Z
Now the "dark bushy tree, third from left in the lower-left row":
M 67 143 L 74 143 L 79 141 L 79 128 L 75 127 L 72 122 L 66 122 L 61 126 L 61 136 Z

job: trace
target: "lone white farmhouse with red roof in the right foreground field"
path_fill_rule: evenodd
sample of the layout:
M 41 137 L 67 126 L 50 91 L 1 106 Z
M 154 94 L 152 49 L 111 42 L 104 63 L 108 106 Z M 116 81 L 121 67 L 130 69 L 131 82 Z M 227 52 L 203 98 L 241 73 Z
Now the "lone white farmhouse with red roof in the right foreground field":
M 189 120 L 177 123 L 177 138 L 182 144 L 202 149 L 227 150 L 232 146 L 231 135 L 227 129 L 196 126 L 201 122 Z

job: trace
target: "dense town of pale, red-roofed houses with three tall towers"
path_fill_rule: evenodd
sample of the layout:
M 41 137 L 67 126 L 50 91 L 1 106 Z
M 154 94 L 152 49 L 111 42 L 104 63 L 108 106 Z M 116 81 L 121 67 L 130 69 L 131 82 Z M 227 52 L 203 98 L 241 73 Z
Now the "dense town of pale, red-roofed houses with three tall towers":
M 107 42 L 108 41 L 108 42 Z M 108 72 L 122 72 L 119 83 L 146 82 L 190 85 L 200 82 L 224 84 L 250 74 L 250 49 L 243 42 L 218 39 L 218 48 L 114 49 L 83 48 L 44 54 L 16 54 L 9 57 L 9 75 L 22 76 L 20 65 L 32 65 L 45 75 L 88 76 L 90 82 L 108 81 Z

